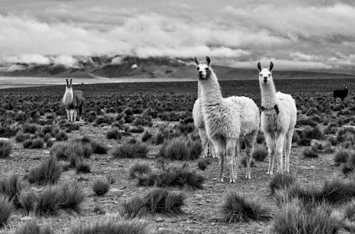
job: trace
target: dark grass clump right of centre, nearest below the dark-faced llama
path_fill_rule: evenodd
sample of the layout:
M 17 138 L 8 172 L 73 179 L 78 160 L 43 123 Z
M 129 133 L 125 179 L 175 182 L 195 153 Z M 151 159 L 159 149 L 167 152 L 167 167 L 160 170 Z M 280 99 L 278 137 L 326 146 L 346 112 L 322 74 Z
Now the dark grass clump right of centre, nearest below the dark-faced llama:
M 222 206 L 224 222 L 249 222 L 250 220 L 268 220 L 271 213 L 258 200 L 248 200 L 237 193 L 229 192 Z

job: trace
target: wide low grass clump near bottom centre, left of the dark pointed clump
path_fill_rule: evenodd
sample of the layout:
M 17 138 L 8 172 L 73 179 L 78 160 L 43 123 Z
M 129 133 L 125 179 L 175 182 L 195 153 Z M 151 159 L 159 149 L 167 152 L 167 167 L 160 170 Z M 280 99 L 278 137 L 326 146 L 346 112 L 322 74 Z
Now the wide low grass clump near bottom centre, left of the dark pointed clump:
M 145 196 L 134 197 L 126 201 L 122 215 L 126 218 L 136 218 L 150 213 L 163 213 L 176 216 L 183 213 L 181 207 L 185 205 L 185 195 L 181 192 L 168 191 L 165 188 L 153 188 Z

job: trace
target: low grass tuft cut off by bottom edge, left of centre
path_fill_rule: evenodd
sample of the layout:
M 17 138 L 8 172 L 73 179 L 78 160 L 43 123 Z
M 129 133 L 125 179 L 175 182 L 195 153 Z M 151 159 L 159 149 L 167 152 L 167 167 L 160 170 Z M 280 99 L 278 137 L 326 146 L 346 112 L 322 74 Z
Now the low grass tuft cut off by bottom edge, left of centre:
M 119 220 L 107 218 L 94 224 L 76 225 L 69 234 L 148 234 L 148 225 L 143 220 Z

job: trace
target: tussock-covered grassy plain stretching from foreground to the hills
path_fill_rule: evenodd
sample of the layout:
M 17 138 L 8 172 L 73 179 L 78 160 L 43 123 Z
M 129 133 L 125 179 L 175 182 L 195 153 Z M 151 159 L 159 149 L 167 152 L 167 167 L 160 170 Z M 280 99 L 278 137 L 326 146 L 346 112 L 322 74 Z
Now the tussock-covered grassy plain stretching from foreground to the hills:
M 309 225 L 299 233 L 354 232 L 355 212 L 344 214 L 354 206 L 355 131 L 344 126 L 355 122 L 355 79 L 275 85 L 293 95 L 298 110 L 287 183 L 266 175 L 263 134 L 251 180 L 241 164 L 236 184 L 217 182 L 217 159 L 199 159 L 191 113 L 197 82 L 75 85 L 86 98 L 85 121 L 75 124 L 66 122 L 60 103 L 65 85 L 0 90 L 0 137 L 10 139 L 0 141 L 0 195 L 13 203 L 9 218 L 0 214 L 0 233 L 35 220 L 54 233 L 74 234 L 78 225 L 133 216 L 146 220 L 137 233 L 285 233 L 282 228 L 297 222 L 298 230 Z M 332 90 L 346 85 L 344 103 L 334 102 Z M 221 87 L 224 96 L 246 95 L 260 106 L 257 80 L 222 81 Z M 15 175 L 16 183 L 8 183 Z M 283 183 L 290 189 L 278 189 Z M 154 184 L 168 191 L 152 191 Z M 4 211 L 9 202 L 1 199 Z

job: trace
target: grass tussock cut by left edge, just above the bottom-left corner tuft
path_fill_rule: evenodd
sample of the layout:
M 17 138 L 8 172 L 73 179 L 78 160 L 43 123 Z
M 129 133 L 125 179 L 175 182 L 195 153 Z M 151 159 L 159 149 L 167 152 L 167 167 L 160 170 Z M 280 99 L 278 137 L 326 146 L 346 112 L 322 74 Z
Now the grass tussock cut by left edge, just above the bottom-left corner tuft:
M 18 196 L 23 190 L 22 182 L 22 177 L 17 174 L 0 179 L 0 195 L 9 198 L 16 207 L 20 206 Z

